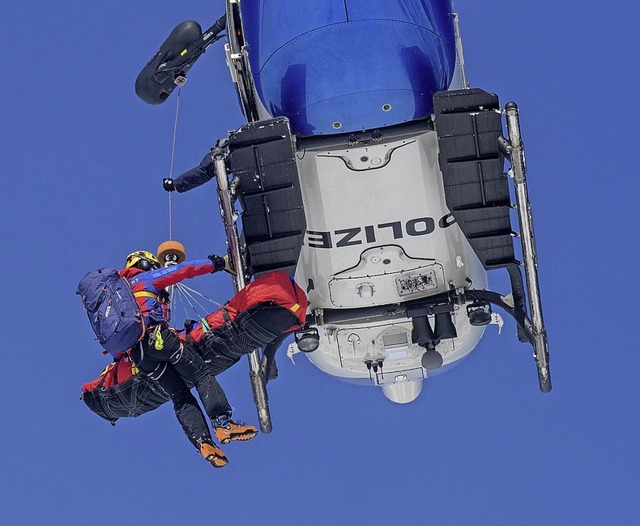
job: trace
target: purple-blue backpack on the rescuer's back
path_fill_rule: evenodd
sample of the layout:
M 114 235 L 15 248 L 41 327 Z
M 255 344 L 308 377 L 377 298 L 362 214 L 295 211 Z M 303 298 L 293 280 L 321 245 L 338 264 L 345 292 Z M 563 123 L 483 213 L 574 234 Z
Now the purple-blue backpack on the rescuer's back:
M 117 270 L 89 272 L 78 284 L 82 304 L 100 345 L 116 359 L 144 334 L 142 315 L 129 282 Z

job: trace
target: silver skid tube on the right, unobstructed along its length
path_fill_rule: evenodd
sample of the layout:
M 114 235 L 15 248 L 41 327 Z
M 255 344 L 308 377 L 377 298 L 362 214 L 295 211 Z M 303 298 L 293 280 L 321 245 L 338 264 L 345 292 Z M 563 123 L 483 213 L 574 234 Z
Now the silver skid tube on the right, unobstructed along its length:
M 520 237 L 522 240 L 522 257 L 525 277 L 529 293 L 529 309 L 531 311 L 531 329 L 533 333 L 534 357 L 538 366 L 540 390 L 551 391 L 551 373 L 549 371 L 549 344 L 547 331 L 542 319 L 542 301 L 538 285 L 538 258 L 536 255 L 535 237 L 533 235 L 533 219 L 531 203 L 527 191 L 527 169 L 525 165 L 524 146 L 520 135 L 520 119 L 518 106 L 514 102 L 505 105 L 507 117 L 508 141 L 502 141 L 504 153 L 510 160 L 515 185 Z

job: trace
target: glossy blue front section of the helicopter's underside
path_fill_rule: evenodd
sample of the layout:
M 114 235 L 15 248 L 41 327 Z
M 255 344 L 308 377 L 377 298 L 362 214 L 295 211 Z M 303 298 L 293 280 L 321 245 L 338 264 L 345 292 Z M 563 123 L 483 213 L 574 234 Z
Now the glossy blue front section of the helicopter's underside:
M 450 0 L 241 2 L 256 93 L 293 133 L 381 128 L 430 114 L 455 67 Z

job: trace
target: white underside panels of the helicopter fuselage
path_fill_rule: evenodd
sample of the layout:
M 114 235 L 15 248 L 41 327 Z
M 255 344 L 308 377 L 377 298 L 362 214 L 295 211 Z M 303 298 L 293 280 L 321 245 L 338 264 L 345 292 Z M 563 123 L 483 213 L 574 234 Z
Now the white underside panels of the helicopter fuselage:
M 357 309 L 399 304 L 452 288 L 486 288 L 486 273 L 445 203 L 436 133 L 361 147 L 297 155 L 307 234 L 296 279 L 310 307 Z M 466 356 L 483 328 L 464 308 L 458 336 L 437 347 L 444 365 Z M 365 361 L 384 360 L 374 383 L 426 377 L 424 348 L 411 343 L 411 320 L 318 327 L 320 347 L 308 355 L 343 378 L 372 376 Z

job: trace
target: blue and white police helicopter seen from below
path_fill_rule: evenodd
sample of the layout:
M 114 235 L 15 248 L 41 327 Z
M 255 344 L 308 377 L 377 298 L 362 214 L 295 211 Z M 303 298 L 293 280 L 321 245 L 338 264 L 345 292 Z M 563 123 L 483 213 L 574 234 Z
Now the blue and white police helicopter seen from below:
M 451 1 L 228 0 L 206 30 L 176 26 L 136 93 L 161 104 L 222 38 L 247 120 L 211 154 L 234 285 L 295 276 L 309 310 L 289 357 L 409 403 L 502 312 L 549 392 L 519 110 L 469 86 Z M 259 350 L 249 364 L 269 432 Z

